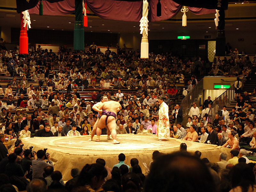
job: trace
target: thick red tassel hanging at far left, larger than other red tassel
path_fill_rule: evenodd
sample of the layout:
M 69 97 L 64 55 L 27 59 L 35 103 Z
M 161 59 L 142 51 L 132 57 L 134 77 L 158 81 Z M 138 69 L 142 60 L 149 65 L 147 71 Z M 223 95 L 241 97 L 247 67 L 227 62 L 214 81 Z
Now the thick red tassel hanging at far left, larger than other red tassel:
M 20 13 L 20 54 L 28 54 L 27 25 L 24 27 L 23 13 Z

